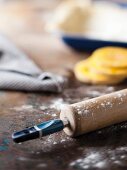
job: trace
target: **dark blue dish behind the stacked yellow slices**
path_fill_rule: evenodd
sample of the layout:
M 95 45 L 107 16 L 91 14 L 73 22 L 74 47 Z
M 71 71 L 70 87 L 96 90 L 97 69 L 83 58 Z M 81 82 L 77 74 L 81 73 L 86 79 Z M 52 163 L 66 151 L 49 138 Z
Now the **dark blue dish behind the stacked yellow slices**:
M 127 3 L 118 3 L 122 8 L 127 8 Z M 84 36 L 75 36 L 69 34 L 61 34 L 62 40 L 70 47 L 78 51 L 93 51 L 104 46 L 127 47 L 127 42 L 107 41 L 99 39 L 86 38 Z

